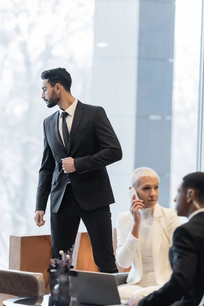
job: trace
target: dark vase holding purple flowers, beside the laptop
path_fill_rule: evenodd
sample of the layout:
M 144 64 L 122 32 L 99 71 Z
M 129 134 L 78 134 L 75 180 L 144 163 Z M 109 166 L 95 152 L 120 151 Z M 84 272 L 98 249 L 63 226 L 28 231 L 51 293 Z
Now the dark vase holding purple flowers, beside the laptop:
M 56 306 L 69 306 L 70 304 L 70 284 L 69 284 L 69 274 L 60 274 L 57 278 L 58 284 L 53 290 L 53 300 Z

